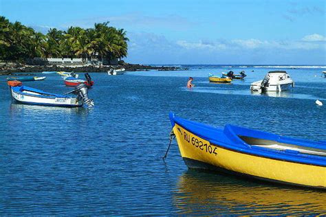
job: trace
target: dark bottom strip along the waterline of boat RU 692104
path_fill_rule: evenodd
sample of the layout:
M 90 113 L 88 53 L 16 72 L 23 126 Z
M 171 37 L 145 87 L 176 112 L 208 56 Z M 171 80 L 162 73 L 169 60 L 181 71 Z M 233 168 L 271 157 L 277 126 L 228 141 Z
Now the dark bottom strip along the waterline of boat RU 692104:
M 292 185 L 292 186 L 298 186 L 298 187 L 312 187 L 312 188 L 315 188 L 315 189 L 325 190 L 325 187 L 323 187 L 323 186 L 299 185 L 299 184 L 289 183 L 289 182 L 286 182 L 286 181 L 279 181 L 279 180 L 276 180 L 276 179 L 268 179 L 268 178 L 263 178 L 261 176 L 253 176 L 253 175 L 250 175 L 250 174 L 245 174 L 245 173 L 241 173 L 241 172 L 226 170 L 224 168 L 220 168 L 218 166 L 211 165 L 211 164 L 205 163 L 203 161 L 197 161 L 197 160 L 194 160 L 194 159 L 190 159 L 190 158 L 187 158 L 187 157 L 183 157 L 182 159 L 184 160 L 184 163 L 186 163 L 187 167 L 191 168 L 193 170 L 218 171 L 218 172 L 223 172 L 225 174 L 232 174 L 232 175 L 235 174 L 235 175 L 237 175 L 238 177 L 241 177 L 241 178 L 254 178 L 254 179 L 258 179 L 260 181 L 268 181 L 268 182 L 272 182 L 272 183 L 279 183 L 279 184 L 282 184 L 282 185 Z

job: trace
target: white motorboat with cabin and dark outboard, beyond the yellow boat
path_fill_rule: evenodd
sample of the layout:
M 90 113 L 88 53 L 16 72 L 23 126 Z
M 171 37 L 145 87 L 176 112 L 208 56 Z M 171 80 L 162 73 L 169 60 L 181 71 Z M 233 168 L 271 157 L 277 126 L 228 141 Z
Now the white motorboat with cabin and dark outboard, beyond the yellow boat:
M 253 82 L 251 91 L 286 91 L 294 87 L 294 81 L 286 71 L 270 71 L 263 80 Z

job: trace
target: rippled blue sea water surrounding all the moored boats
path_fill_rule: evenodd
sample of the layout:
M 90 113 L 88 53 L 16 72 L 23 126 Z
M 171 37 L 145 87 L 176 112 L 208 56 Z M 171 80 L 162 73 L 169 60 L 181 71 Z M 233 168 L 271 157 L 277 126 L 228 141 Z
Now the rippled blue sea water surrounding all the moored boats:
M 272 68 L 233 67 L 246 80 L 208 82 L 208 73 L 228 69 L 91 73 L 90 109 L 12 104 L 0 82 L 0 214 L 326 214 L 325 192 L 188 170 L 175 141 L 162 161 L 169 111 L 217 127 L 326 140 L 326 106 L 315 104 L 326 105 L 325 69 L 287 68 L 296 87 L 265 95 L 250 93 L 250 82 Z M 25 85 L 71 90 L 55 74 Z

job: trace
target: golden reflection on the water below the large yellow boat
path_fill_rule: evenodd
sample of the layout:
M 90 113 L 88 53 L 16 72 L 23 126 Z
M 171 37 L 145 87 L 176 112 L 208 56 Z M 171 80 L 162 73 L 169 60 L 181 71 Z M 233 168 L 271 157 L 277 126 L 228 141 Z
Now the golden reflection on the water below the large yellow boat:
M 326 214 L 325 192 L 188 170 L 173 203 L 178 214 Z

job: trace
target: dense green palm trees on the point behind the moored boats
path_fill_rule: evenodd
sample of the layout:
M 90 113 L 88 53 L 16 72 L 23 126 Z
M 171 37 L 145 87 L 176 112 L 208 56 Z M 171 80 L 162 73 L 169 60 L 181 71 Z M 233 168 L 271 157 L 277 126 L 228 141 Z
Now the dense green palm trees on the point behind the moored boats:
M 11 23 L 0 16 L 0 59 L 26 58 L 84 58 L 102 60 L 127 56 L 129 39 L 123 29 L 109 26 L 109 22 L 95 23 L 93 28 L 51 28 L 47 34 L 36 32 L 16 21 Z

